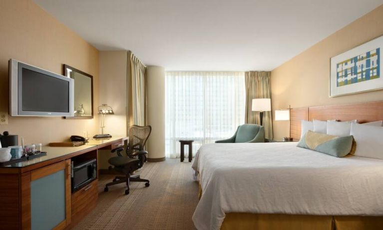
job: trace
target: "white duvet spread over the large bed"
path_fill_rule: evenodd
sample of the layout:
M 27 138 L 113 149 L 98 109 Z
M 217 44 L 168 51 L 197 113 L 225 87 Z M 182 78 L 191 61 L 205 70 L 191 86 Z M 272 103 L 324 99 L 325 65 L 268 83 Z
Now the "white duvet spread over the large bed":
M 297 143 L 204 144 L 193 161 L 198 230 L 225 213 L 383 216 L 383 160 L 336 158 Z

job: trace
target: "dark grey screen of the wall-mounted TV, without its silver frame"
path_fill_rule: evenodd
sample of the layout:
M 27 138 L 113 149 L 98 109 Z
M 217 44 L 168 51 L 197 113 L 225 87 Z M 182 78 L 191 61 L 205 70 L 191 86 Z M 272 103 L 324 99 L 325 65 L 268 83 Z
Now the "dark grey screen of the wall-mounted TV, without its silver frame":
M 22 111 L 69 112 L 69 82 L 22 68 Z

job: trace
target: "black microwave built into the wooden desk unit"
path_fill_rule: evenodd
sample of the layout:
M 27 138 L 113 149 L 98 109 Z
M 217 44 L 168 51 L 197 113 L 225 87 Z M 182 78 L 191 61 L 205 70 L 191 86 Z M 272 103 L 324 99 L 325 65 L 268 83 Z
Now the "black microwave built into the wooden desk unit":
M 97 161 L 92 159 L 86 162 L 71 162 L 72 166 L 72 193 L 80 190 L 97 178 Z

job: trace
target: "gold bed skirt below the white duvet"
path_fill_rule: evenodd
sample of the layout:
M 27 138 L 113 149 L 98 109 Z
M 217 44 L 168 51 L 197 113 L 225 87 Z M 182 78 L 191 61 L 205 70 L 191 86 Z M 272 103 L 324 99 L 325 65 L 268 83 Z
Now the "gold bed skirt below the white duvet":
M 198 183 L 199 184 L 199 183 Z M 202 188 L 199 184 L 198 197 Z M 221 230 L 383 230 L 383 217 L 227 213 Z

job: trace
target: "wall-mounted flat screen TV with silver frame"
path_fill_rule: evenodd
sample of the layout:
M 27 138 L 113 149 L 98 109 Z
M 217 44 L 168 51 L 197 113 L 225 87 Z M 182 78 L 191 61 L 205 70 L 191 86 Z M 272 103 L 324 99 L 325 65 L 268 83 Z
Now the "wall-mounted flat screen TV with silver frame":
M 73 116 L 73 79 L 9 60 L 11 116 Z

